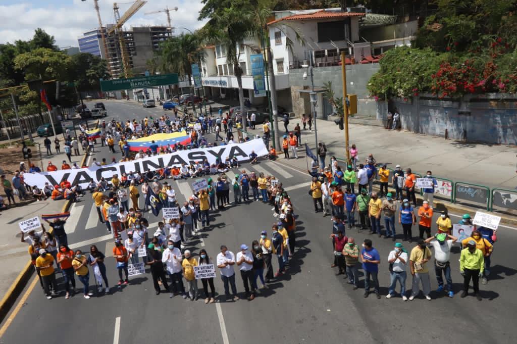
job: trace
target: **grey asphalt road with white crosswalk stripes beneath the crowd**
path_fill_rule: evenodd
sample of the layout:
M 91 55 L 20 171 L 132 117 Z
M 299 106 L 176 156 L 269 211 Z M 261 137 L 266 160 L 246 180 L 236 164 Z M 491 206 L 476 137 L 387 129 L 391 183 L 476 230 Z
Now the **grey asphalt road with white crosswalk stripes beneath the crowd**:
M 120 102 L 107 102 L 107 109 L 108 118 L 117 119 L 162 113 L 158 109 L 141 109 Z M 111 159 L 104 148 L 97 153 L 97 159 L 99 157 Z M 491 279 L 488 285 L 481 286 L 481 302 L 473 296 L 449 298 L 435 292 L 431 293 L 432 301 L 426 301 L 422 296 L 412 302 L 403 302 L 399 297 L 377 300 L 373 294 L 365 299 L 361 289 L 353 291 L 330 267 L 330 217 L 314 214 L 312 200 L 307 195 L 307 175 L 285 167 L 281 162 L 245 164 L 244 168 L 276 173 L 288 188 L 298 215 L 297 251 L 289 273 L 273 281 L 268 290 L 261 290 L 254 301 L 205 305 L 202 298 L 191 302 L 177 296 L 170 299 L 166 293 L 157 296 L 150 274 L 136 276 L 129 286 L 112 295 L 90 300 L 84 300 L 80 294 L 65 300 L 62 294 L 48 301 L 36 285 L 0 343 L 59 341 L 82 344 L 92 342 L 92 334 L 100 343 L 509 343 L 516 338 L 513 318 L 508 316 L 517 306 L 513 294 L 517 272 L 513 258 L 513 243 L 517 242 L 515 229 L 505 227 L 499 231 Z M 191 191 L 189 181 L 173 182 L 173 187 L 181 201 Z M 96 221 L 92 200 L 86 197 L 74 205 L 71 213 L 67 227 L 71 232 L 69 241 L 79 243 L 82 249 L 97 243 L 99 249 L 110 256 L 112 242 L 105 237 L 104 225 Z M 236 253 L 241 243 L 250 245 L 260 231 L 269 231 L 275 221 L 272 214 L 271 208 L 262 202 L 234 205 L 212 213 L 213 228 L 202 232 L 190 248 L 197 253 L 204 247 L 214 259 L 221 244 Z M 147 216 L 152 233 L 158 219 Z M 453 220 L 458 219 L 453 217 Z M 75 223 L 77 226 L 72 228 Z M 397 231 L 400 236 L 400 226 Z M 386 295 L 391 240 L 356 230 L 347 235 L 356 237 L 358 242 L 372 238 L 381 253 L 379 281 L 381 294 Z M 456 292 L 462 285 L 458 259 L 459 253 L 455 252 L 451 266 Z M 107 268 L 110 283 L 116 282 L 113 258 L 107 259 Z M 219 278 L 215 282 L 216 291 L 221 294 L 222 282 Z M 238 291 L 244 296 L 238 274 L 236 282 Z M 90 283 L 93 285 L 92 278 Z M 431 286 L 433 290 L 437 286 L 433 275 Z M 406 287 L 410 287 L 409 281 Z M 114 337 L 118 337 L 118 341 Z

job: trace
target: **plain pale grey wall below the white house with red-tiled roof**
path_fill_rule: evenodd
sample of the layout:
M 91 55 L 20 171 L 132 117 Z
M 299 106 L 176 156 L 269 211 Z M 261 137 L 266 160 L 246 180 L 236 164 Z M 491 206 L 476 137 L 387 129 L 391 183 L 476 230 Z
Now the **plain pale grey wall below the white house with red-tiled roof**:
M 371 76 L 379 69 L 378 64 L 364 64 L 364 65 L 349 65 L 346 66 L 346 91 L 348 94 L 357 94 L 357 115 L 358 117 L 376 118 L 376 102 L 368 97 L 367 85 Z M 310 76 L 307 80 L 303 80 L 303 73 L 306 69 L 292 69 L 289 71 L 289 82 L 291 85 L 291 97 L 293 102 L 293 111 L 297 116 L 305 112 L 305 105 L 303 98 L 297 96 L 298 89 L 303 86 L 310 87 Z M 328 81 L 332 82 L 332 88 L 336 97 L 341 97 L 342 81 L 341 81 L 341 66 L 332 67 L 318 67 L 313 69 L 314 85 L 316 87 L 323 87 Z M 318 99 L 318 103 L 321 101 Z M 310 109 L 310 108 L 309 108 Z M 324 117 L 322 113 L 323 107 L 317 109 L 318 117 Z

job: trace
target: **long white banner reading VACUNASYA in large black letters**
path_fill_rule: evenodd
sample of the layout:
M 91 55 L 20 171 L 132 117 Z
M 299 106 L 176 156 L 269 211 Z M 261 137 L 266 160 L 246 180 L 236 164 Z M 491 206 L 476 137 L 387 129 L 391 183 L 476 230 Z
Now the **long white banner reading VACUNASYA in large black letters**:
M 245 143 L 234 143 L 225 146 L 210 148 L 189 149 L 187 151 L 177 151 L 175 153 L 155 155 L 143 159 L 117 162 L 105 166 L 91 166 L 84 169 L 59 170 L 55 172 L 25 173 L 23 175 L 25 183 L 30 186 L 37 185 L 39 188 L 45 186 L 45 182 L 50 185 L 60 184 L 62 181 L 69 181 L 72 186 L 81 185 L 86 187 L 90 181 L 98 183 L 101 177 L 111 180 L 114 174 L 120 177 L 124 173 L 134 171 L 156 171 L 163 167 L 181 166 L 181 163 L 195 163 L 195 161 L 208 160 L 208 163 L 216 163 L 216 159 L 224 161 L 227 157 L 236 157 L 238 161 L 249 160 L 251 151 L 255 151 L 258 156 L 265 156 L 268 150 L 262 139 L 254 139 Z

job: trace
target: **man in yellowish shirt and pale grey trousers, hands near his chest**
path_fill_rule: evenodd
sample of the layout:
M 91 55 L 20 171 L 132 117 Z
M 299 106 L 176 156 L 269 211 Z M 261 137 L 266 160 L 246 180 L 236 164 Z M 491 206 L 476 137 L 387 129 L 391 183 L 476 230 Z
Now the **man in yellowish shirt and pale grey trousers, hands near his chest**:
M 412 292 L 409 296 L 409 301 L 413 301 L 415 296 L 420 292 L 419 284 L 422 284 L 422 290 L 425 298 L 431 300 L 431 281 L 429 280 L 429 269 L 427 262 L 431 259 L 431 250 L 425 245 L 423 240 L 418 242 L 418 245 L 413 247 L 409 255 L 409 267 L 411 269 Z

